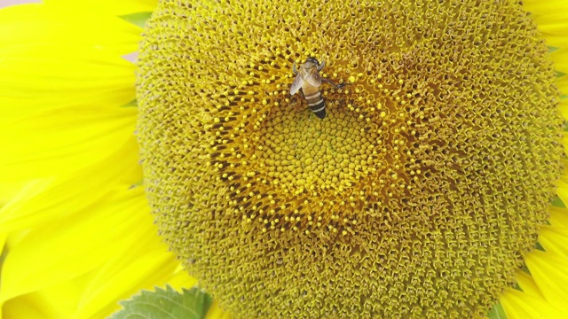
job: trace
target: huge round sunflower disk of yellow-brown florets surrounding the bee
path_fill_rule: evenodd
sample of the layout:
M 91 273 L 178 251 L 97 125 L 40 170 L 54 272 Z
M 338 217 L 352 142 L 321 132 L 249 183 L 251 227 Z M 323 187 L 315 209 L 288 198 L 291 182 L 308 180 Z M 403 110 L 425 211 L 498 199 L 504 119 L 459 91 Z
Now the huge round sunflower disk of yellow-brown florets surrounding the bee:
M 346 83 L 323 120 L 309 57 Z M 484 317 L 547 221 L 563 121 L 519 2 L 164 0 L 139 66 L 155 221 L 235 318 Z

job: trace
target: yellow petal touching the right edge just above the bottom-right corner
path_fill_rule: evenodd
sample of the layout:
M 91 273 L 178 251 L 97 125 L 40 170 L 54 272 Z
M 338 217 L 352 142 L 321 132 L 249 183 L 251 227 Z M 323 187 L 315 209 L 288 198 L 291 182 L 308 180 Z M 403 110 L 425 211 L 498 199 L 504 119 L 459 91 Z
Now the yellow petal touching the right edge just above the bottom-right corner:
M 568 259 L 534 250 L 525 255 L 525 264 L 544 298 L 554 307 L 564 307 L 568 300 Z M 566 309 L 568 317 L 568 309 Z

